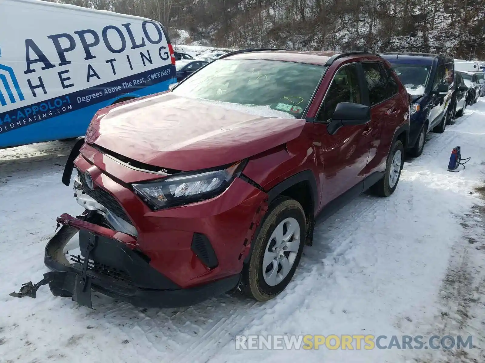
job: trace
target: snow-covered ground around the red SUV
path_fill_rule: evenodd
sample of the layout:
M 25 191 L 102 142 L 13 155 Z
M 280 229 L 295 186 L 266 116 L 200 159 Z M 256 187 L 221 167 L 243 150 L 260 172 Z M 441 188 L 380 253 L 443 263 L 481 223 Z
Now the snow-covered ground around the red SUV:
M 391 197 L 358 197 L 319 224 L 293 281 L 266 303 L 147 310 L 95 294 L 89 310 L 48 287 L 10 297 L 48 271 L 55 218 L 81 212 L 61 184 L 71 145 L 0 151 L 0 362 L 485 362 L 484 101 L 428 136 Z M 471 160 L 447 172 L 456 145 Z M 237 334 L 462 334 L 476 348 L 244 351 Z

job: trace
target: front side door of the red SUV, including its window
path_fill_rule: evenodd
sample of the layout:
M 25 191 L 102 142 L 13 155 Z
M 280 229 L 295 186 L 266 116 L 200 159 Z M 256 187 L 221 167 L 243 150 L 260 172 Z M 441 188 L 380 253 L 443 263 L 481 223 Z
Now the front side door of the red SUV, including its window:
M 360 65 L 352 63 L 341 66 L 335 73 L 315 118 L 314 145 L 316 162 L 320 169 L 321 207 L 353 187 L 356 187 L 353 190 L 356 195 L 363 190 L 363 183 L 360 188 L 357 184 L 364 180 L 369 159 L 369 125 L 344 126 L 334 135 L 327 131 L 332 114 L 340 102 L 364 104 L 362 91 Z

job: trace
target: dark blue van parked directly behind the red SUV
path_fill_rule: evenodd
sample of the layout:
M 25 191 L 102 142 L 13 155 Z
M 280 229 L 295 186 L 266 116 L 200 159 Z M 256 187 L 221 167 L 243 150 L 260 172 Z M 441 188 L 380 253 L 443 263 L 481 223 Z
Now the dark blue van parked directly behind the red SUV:
M 453 93 L 453 58 L 426 53 L 386 53 L 412 97 L 408 153 L 421 155 L 426 135 L 445 131 Z

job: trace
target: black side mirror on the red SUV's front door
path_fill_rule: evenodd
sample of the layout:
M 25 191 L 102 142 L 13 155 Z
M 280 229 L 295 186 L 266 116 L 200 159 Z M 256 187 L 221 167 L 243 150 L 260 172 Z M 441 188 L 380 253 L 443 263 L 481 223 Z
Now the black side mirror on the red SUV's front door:
M 332 121 L 327 126 L 330 135 L 335 135 L 342 126 L 365 125 L 371 121 L 369 106 L 340 102 L 332 115 Z

